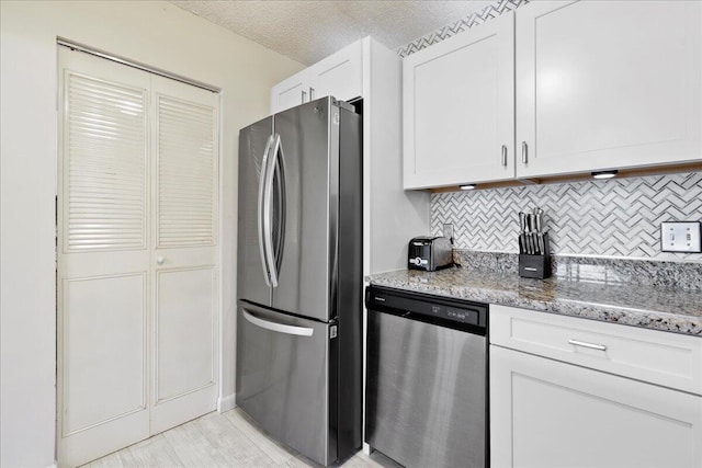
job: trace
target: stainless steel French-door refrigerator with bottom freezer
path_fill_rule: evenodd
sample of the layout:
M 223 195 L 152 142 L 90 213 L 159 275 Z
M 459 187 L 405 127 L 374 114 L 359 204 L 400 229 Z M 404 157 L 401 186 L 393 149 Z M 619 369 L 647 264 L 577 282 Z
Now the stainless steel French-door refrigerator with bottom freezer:
M 236 402 L 322 465 L 361 446 L 361 128 L 322 98 L 239 133 Z

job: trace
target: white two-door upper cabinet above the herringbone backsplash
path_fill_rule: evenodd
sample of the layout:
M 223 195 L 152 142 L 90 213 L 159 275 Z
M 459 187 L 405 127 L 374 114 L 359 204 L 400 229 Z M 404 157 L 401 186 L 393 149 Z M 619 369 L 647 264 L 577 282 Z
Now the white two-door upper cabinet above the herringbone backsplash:
M 701 162 L 701 30 L 699 1 L 539 1 L 406 57 L 405 189 Z

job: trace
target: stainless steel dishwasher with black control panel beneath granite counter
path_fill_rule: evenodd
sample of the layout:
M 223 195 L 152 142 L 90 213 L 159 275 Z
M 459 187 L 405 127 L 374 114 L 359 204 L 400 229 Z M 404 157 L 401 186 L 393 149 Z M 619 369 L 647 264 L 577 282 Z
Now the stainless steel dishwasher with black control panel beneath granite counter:
M 487 467 L 485 304 L 370 286 L 365 441 L 406 467 Z

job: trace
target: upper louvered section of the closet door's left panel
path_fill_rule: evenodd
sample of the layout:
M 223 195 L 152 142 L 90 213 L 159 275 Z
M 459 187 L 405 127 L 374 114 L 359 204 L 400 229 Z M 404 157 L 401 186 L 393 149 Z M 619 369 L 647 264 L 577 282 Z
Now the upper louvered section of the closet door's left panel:
M 146 91 L 71 72 L 67 78 L 64 251 L 144 249 Z

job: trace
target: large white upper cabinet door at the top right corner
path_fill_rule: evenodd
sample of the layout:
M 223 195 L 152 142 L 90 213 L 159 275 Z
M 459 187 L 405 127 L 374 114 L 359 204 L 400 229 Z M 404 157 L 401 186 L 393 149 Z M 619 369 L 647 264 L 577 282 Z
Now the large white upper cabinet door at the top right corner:
M 517 175 L 702 160 L 701 7 L 550 1 L 520 9 Z

